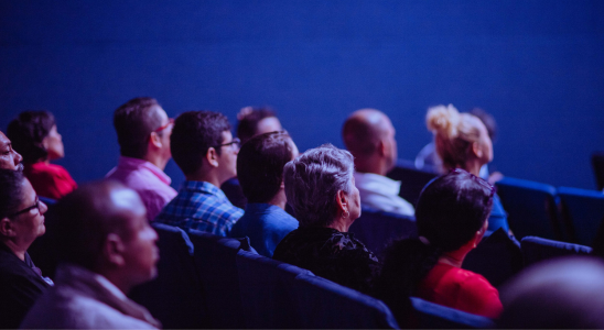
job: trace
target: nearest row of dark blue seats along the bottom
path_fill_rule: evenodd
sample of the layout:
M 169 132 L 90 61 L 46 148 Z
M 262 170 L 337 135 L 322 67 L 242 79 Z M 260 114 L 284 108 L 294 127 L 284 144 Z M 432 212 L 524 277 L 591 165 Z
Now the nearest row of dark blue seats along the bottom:
M 164 328 L 398 328 L 386 305 L 310 271 L 255 253 L 247 239 L 153 223 L 159 276 L 131 293 Z M 421 328 L 493 321 L 412 298 Z

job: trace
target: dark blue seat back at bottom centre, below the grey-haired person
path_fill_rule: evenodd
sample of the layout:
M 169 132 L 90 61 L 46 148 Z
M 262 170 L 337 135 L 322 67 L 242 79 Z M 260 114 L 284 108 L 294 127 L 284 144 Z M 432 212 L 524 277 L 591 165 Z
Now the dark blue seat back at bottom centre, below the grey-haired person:
M 300 328 L 306 329 L 397 329 L 386 305 L 323 277 L 295 277 L 295 308 Z

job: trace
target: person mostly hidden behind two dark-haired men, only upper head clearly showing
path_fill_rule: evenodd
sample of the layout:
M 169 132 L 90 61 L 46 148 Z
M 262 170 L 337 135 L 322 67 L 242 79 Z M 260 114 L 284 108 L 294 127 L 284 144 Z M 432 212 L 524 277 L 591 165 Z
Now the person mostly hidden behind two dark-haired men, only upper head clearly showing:
M 281 122 L 269 108 L 241 108 L 237 114 L 237 120 L 239 121 L 237 123 L 237 138 L 241 141 L 241 145 L 258 134 L 282 130 Z M 246 208 L 247 199 L 237 177 L 228 179 L 220 186 L 220 189 L 225 191 L 228 200 L 234 206 Z

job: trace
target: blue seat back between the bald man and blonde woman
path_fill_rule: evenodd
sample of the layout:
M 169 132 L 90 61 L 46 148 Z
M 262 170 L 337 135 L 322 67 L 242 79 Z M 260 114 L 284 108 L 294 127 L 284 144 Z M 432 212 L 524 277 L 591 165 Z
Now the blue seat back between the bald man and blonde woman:
M 417 206 L 421 190 L 425 184 L 435 178 L 438 174 L 434 172 L 417 169 L 411 161 L 398 160 L 395 168 L 386 176 L 400 182 L 399 196 L 413 206 Z

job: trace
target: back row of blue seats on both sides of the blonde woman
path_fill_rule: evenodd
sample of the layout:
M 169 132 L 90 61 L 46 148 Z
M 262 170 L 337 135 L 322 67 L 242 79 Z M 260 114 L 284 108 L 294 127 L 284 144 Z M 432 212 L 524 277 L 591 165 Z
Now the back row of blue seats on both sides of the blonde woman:
M 399 160 L 388 176 L 401 182 L 400 196 L 413 205 L 421 189 L 436 176 Z M 527 235 L 591 245 L 604 220 L 604 194 L 505 177 L 497 194 L 508 213 L 509 227 L 518 239 Z

